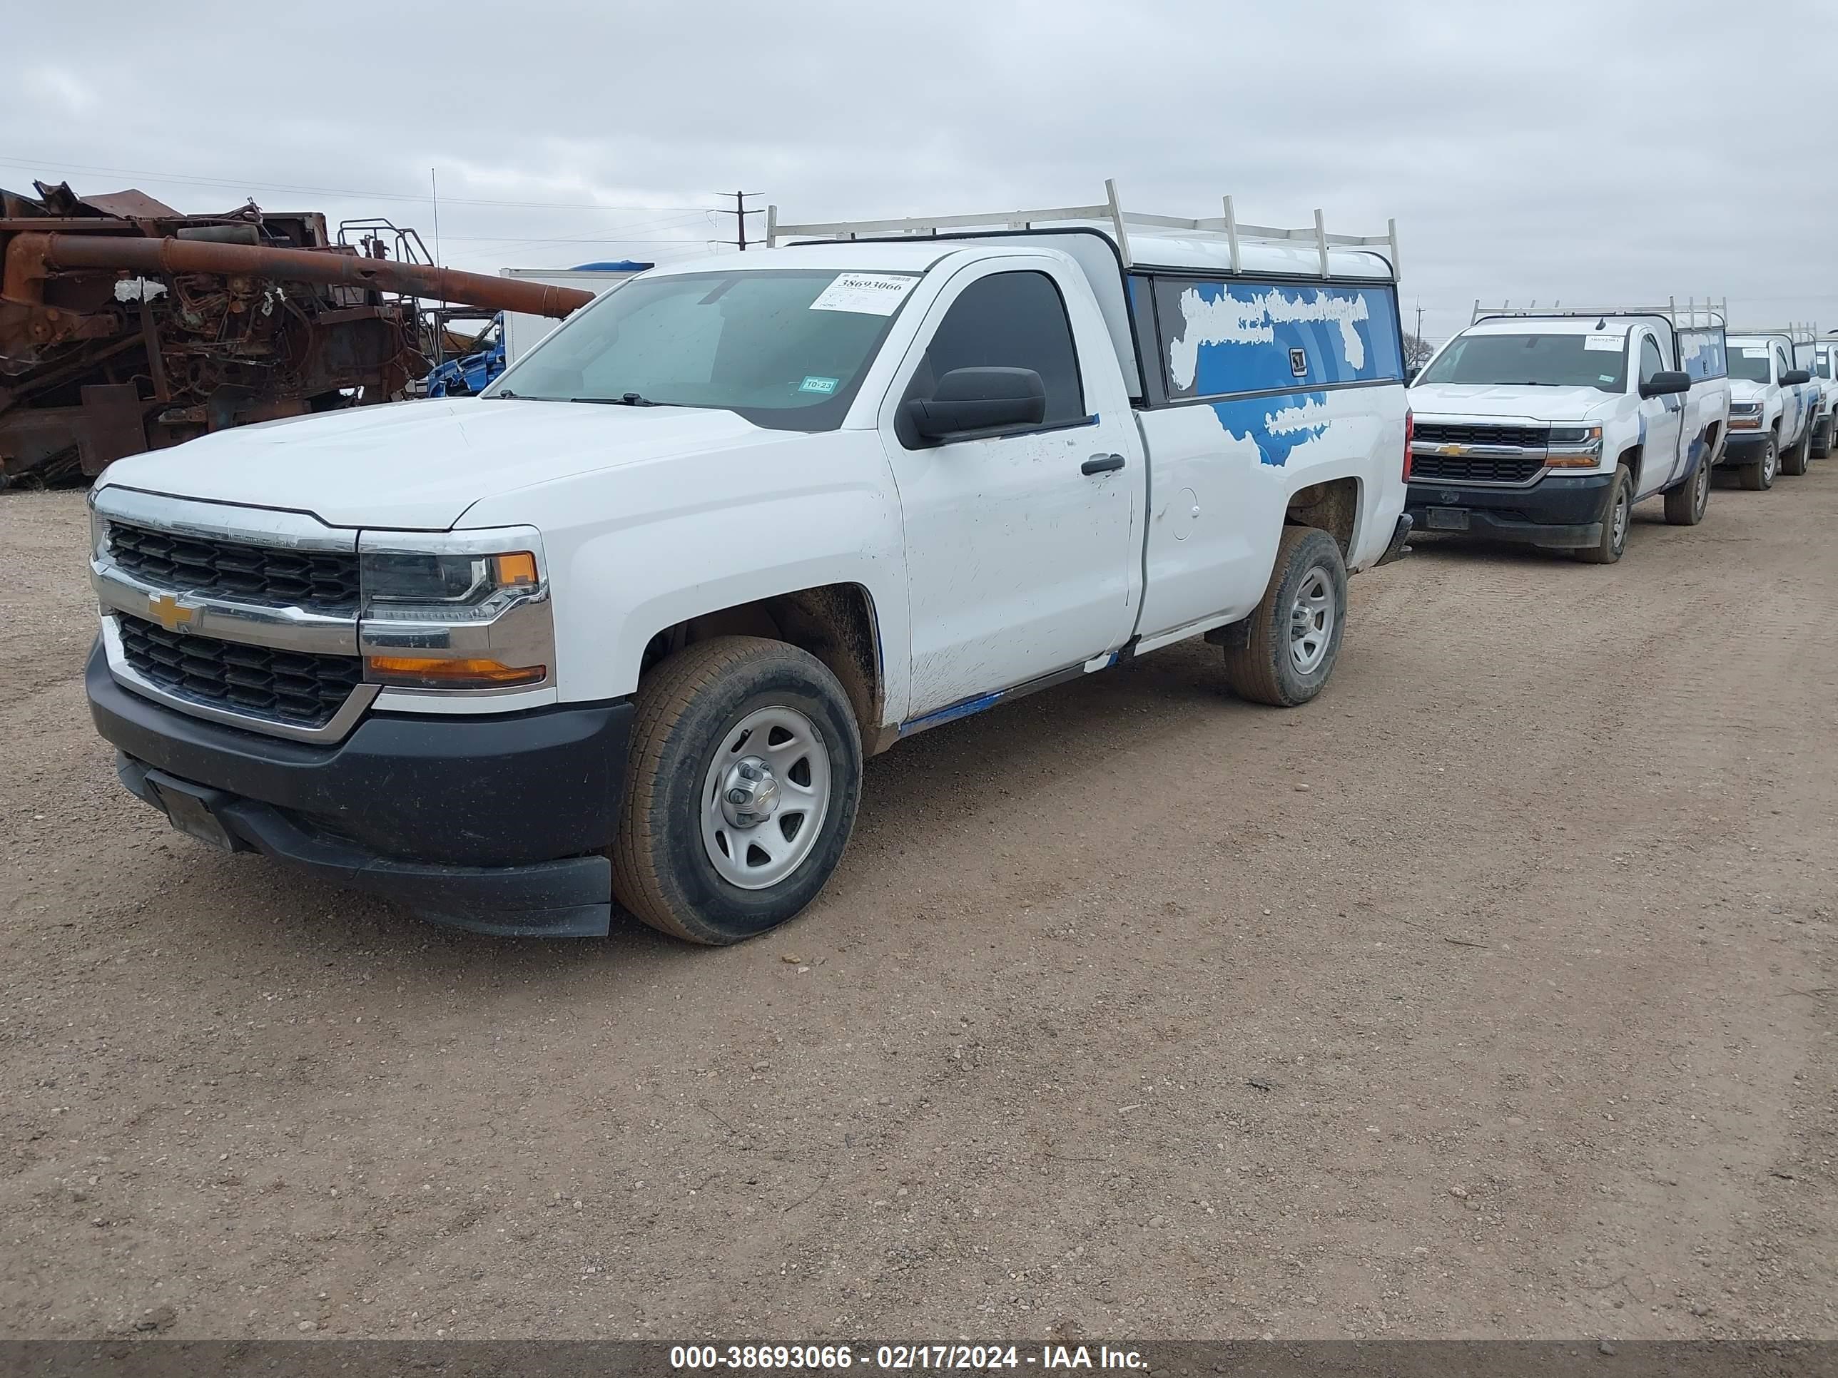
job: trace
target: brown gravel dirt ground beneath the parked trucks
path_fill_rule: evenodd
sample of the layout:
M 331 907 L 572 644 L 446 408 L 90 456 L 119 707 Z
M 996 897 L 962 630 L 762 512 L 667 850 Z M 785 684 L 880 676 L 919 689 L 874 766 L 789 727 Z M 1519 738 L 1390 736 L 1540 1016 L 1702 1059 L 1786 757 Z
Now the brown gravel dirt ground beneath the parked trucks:
M 0 496 L 0 1332 L 1838 1336 L 1838 459 L 1638 516 L 906 742 L 717 952 L 169 832 Z

